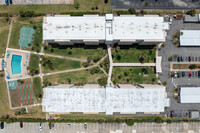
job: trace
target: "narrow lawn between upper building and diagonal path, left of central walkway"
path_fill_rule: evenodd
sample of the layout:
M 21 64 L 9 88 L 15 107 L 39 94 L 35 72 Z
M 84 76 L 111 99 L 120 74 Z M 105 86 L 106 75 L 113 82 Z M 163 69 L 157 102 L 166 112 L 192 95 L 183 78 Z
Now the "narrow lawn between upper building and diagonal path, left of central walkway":
M 50 48 L 47 48 L 46 50 L 44 50 L 44 52 L 48 54 L 62 55 L 62 56 L 80 58 L 80 59 L 87 59 L 87 57 L 89 56 L 103 57 L 105 54 L 105 50 L 101 48 L 98 48 L 98 49 L 72 48 L 71 49 L 72 54 L 68 54 L 67 49 L 59 49 L 59 48 L 53 48 L 53 49 L 54 49 L 54 52 L 51 52 Z

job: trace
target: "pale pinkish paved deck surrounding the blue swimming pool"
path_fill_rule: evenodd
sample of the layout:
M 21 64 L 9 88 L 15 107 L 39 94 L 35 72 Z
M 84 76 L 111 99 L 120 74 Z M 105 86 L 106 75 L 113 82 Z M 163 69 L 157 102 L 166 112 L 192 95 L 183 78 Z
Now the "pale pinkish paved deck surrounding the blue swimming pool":
M 22 56 L 22 60 L 21 60 L 22 71 L 20 74 L 15 74 L 15 75 L 12 74 L 11 61 L 12 61 L 13 54 Z M 30 58 L 29 52 L 6 49 L 6 55 L 5 55 L 5 61 L 6 61 L 5 78 L 6 78 L 6 80 L 30 77 L 28 75 L 28 70 L 27 70 L 27 67 L 29 65 L 29 58 Z M 7 79 L 7 76 L 9 76 L 10 79 Z

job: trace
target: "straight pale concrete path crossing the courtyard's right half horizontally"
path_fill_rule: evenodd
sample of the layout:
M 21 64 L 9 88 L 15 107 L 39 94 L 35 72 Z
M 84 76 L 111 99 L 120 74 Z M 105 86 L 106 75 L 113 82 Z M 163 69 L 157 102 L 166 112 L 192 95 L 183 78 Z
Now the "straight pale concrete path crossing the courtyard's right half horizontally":
M 156 63 L 113 63 L 112 65 L 118 67 L 130 67 L 130 66 L 143 67 L 143 66 L 156 66 Z

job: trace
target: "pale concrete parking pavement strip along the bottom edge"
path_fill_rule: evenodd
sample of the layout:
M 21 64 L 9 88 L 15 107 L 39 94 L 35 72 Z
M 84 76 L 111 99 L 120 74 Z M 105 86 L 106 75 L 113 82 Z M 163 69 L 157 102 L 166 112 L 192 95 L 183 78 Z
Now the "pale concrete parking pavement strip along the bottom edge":
M 23 123 L 20 128 L 19 123 L 5 124 L 0 133 L 199 133 L 200 123 L 135 123 L 134 126 L 126 124 L 98 124 L 88 123 L 84 129 L 83 123 L 72 123 L 71 127 L 67 123 L 55 123 L 49 129 L 48 123 L 43 124 L 43 130 L 39 129 L 39 123 Z

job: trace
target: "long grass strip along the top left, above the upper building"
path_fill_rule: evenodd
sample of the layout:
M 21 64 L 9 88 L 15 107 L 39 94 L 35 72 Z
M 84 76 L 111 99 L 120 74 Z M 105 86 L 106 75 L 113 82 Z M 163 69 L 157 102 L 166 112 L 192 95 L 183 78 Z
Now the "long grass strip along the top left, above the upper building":
M 9 5 L 0 6 L 0 13 L 19 13 L 19 11 L 35 11 L 36 13 L 61 13 L 61 12 L 86 12 L 99 11 L 110 12 L 110 2 L 104 4 L 103 0 L 78 0 L 80 8 L 77 10 L 74 5 Z M 98 10 L 91 10 L 92 7 L 98 6 Z

